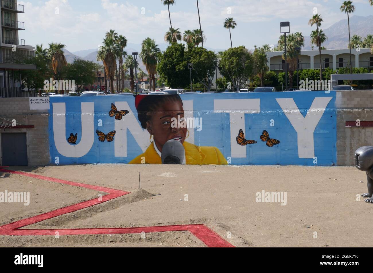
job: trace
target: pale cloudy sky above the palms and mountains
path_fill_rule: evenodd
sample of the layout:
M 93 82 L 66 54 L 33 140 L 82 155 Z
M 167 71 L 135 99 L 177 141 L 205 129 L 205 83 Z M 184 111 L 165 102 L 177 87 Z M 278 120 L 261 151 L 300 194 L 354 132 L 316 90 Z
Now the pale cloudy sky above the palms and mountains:
M 368 0 L 354 0 L 354 15 L 373 14 Z M 25 22 L 19 38 L 27 45 L 63 43 L 70 52 L 98 48 L 110 29 L 124 35 L 128 43 L 141 44 L 147 37 L 158 44 L 170 27 L 167 6 L 161 0 L 29 0 L 19 1 Z M 342 0 L 198 0 L 201 26 L 206 47 L 227 49 L 231 46 L 229 30 L 223 28 L 225 18 L 232 17 L 237 27 L 232 30 L 233 46 L 276 44 L 280 22 L 289 21 L 291 32 L 309 36 L 308 20 L 314 12 L 322 15 L 322 28 L 346 19 L 339 10 Z M 176 0 L 170 6 L 172 26 L 181 32 L 199 28 L 197 1 Z M 56 14 L 57 13 L 57 14 Z

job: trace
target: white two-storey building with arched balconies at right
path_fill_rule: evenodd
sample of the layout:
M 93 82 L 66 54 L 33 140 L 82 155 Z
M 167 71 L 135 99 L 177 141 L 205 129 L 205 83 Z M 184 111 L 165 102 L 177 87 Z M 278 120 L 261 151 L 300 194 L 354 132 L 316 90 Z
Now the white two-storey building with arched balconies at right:
M 270 71 L 282 72 L 283 51 L 266 52 Z M 321 67 L 338 70 L 342 67 L 350 67 L 349 49 L 325 49 L 321 50 Z M 351 66 L 373 70 L 373 55 L 370 49 L 351 49 Z M 319 50 L 301 50 L 298 60 L 298 69 L 320 69 Z

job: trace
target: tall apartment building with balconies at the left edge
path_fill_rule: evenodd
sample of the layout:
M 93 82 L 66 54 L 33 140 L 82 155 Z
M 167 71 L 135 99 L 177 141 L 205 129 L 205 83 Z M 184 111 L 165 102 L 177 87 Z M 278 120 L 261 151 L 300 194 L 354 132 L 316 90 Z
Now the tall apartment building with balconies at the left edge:
M 23 59 L 35 56 L 35 48 L 19 37 L 19 31 L 25 30 L 25 23 L 18 21 L 24 7 L 17 0 L 0 0 L 0 7 L 0 97 L 24 96 L 21 70 L 36 69 L 35 65 L 22 64 Z

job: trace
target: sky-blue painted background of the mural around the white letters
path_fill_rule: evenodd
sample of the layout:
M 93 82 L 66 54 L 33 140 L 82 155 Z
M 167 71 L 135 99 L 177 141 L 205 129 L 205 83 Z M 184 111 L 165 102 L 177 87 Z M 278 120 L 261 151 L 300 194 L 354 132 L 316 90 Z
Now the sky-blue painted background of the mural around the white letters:
M 255 145 L 247 145 L 247 158 L 232 158 L 236 165 L 315 165 L 313 159 L 298 157 L 297 132 L 277 103 L 277 98 L 293 98 L 300 112 L 305 115 L 315 97 L 332 97 L 327 105 L 319 124 L 314 131 L 314 149 L 317 156 L 317 165 L 336 165 L 336 109 L 335 92 L 326 94 L 324 91 L 304 92 L 275 92 L 275 93 L 222 93 L 222 94 L 184 94 L 183 100 L 193 100 L 194 117 L 201 117 L 203 130 L 195 130 L 195 145 L 214 146 L 220 149 L 223 155 L 231 156 L 231 131 L 228 113 L 214 112 L 214 100 L 217 99 L 260 99 L 259 114 L 245 114 L 245 138 L 256 140 Z M 50 98 L 50 155 L 51 163 L 59 157 L 60 164 L 91 164 L 91 163 L 128 163 L 142 153 L 130 132 L 128 138 L 128 157 L 116 158 L 114 156 L 114 142 L 101 143 L 95 134 L 95 141 L 87 155 L 81 158 L 66 158 L 59 154 L 54 145 L 53 138 L 53 102 L 66 103 L 66 139 L 70 133 L 78 133 L 81 139 L 81 102 L 94 102 L 95 130 L 109 133 L 115 130 L 114 118 L 109 117 L 111 103 L 126 101 L 133 112 L 135 109 L 134 96 L 98 96 L 98 97 L 55 97 Z M 118 109 L 123 110 L 123 109 Z M 234 109 L 232 109 L 234 110 Z M 135 113 L 137 117 L 137 113 Z M 125 117 L 124 117 L 125 118 Z M 98 127 L 98 120 L 103 126 Z M 269 121 L 275 120 L 275 126 L 270 127 Z M 140 122 L 139 122 L 140 124 Z M 189 128 L 189 130 L 191 130 Z M 267 130 L 270 137 L 281 141 L 279 145 L 269 148 L 260 140 L 263 130 Z M 237 132 L 238 135 L 238 132 Z M 188 140 L 186 140 L 188 141 Z

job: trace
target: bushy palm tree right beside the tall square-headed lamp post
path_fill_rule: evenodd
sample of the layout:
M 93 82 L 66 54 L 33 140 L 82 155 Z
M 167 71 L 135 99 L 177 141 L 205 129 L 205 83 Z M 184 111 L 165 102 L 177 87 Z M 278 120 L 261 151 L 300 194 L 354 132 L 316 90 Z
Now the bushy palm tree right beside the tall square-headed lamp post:
M 290 82 L 290 88 L 293 87 L 293 77 L 294 77 L 294 71 L 297 70 L 298 67 L 298 56 L 300 52 L 297 50 L 297 47 L 303 47 L 304 46 L 304 37 L 301 33 L 292 33 L 289 34 L 288 37 L 286 37 L 286 61 L 289 62 L 289 82 Z M 285 43 L 281 43 L 279 41 L 278 48 L 283 51 L 285 50 Z M 282 58 L 285 60 L 285 52 L 282 55 Z

